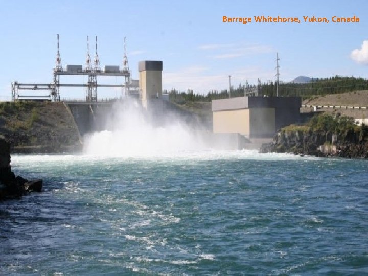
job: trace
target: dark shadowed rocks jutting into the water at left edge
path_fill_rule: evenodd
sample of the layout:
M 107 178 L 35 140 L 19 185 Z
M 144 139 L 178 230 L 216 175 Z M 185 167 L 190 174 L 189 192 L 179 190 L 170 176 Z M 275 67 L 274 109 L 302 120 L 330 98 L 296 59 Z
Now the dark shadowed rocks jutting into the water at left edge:
M 10 166 L 10 143 L 0 135 L 0 201 L 23 196 L 31 191 L 40 192 L 42 179 L 29 181 L 15 176 Z

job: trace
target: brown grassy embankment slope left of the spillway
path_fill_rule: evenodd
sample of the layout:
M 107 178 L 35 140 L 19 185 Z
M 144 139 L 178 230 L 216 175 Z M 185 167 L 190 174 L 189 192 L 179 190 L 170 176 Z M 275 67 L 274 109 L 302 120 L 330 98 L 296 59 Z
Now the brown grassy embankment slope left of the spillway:
M 0 103 L 0 134 L 12 153 L 75 152 L 81 139 L 73 116 L 61 102 Z

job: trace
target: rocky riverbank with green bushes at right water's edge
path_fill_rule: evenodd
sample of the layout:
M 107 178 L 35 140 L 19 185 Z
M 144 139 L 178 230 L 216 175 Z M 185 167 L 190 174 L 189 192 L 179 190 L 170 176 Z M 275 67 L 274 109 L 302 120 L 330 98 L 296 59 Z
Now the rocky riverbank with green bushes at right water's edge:
M 357 126 L 350 117 L 320 114 L 306 125 L 280 129 L 259 151 L 368 158 L 368 126 Z

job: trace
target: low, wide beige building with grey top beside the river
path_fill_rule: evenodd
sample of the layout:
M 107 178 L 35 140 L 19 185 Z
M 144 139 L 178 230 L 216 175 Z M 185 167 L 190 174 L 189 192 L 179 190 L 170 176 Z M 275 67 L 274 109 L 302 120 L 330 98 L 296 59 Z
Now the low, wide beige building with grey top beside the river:
M 300 121 L 301 97 L 237 97 L 212 101 L 213 132 L 269 138 Z

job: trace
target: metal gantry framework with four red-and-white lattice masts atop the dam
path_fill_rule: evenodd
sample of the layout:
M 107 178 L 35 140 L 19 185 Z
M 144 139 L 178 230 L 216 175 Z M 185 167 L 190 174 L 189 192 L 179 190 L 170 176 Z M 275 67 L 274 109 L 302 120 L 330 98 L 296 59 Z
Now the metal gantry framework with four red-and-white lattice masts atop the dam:
M 88 76 L 87 84 L 60 84 L 61 75 L 73 76 Z M 121 76 L 124 77 L 124 84 L 97 84 L 97 76 Z M 97 36 L 96 36 L 96 55 L 94 64 L 92 65 L 91 57 L 89 55 L 89 39 L 87 36 L 87 58 L 86 64 L 82 65 L 68 64 L 63 70 L 61 65 L 61 57 L 59 52 L 59 34 L 57 34 L 57 54 L 56 64 L 53 69 L 52 83 L 20 83 L 18 81 L 12 82 L 12 99 L 13 101 L 25 98 L 43 98 L 52 100 L 54 102 L 60 101 L 60 87 L 85 87 L 86 88 L 86 102 L 97 102 L 97 87 L 122 87 L 124 88 L 124 95 L 139 94 L 139 83 L 137 80 L 131 79 L 131 72 L 129 70 L 128 57 L 126 55 L 126 37 L 124 37 L 124 60 L 123 69 L 120 66 L 106 65 L 104 70 L 101 70 L 100 60 L 97 54 Z M 49 90 L 49 95 L 19 95 L 19 90 Z

